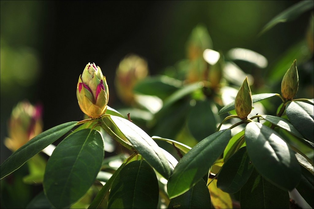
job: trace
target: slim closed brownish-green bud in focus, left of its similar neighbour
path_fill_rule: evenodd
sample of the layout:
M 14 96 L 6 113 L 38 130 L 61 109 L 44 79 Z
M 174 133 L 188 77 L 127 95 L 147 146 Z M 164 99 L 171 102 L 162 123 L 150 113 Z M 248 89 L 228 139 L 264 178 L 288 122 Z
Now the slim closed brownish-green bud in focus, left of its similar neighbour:
M 252 94 L 247 77 L 236 96 L 235 108 L 240 118 L 246 118 L 252 111 Z

